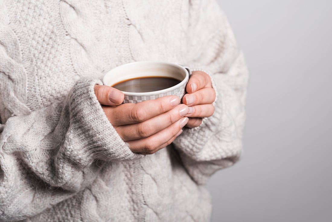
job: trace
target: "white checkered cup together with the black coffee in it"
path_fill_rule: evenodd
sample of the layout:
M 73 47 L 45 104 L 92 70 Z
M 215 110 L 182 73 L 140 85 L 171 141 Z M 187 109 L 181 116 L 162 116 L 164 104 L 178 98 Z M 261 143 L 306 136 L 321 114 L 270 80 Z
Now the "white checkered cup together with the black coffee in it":
M 105 74 L 103 82 L 124 93 L 123 103 L 168 95 L 182 99 L 190 74 L 188 67 L 176 63 L 139 61 L 115 67 Z

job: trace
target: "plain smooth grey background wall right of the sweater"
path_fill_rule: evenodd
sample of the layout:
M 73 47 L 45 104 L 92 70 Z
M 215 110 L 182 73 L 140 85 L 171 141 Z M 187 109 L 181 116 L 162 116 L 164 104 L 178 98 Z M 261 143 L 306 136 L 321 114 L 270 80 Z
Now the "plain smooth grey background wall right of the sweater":
M 250 69 L 242 160 L 212 221 L 332 221 L 332 1 L 219 0 Z

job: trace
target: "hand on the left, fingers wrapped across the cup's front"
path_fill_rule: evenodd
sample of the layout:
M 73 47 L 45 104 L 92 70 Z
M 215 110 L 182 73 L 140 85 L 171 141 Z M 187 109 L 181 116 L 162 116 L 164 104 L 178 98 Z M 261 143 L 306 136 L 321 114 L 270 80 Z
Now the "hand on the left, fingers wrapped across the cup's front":
M 95 85 L 95 94 L 120 137 L 132 152 L 153 154 L 171 144 L 188 123 L 189 108 L 177 96 L 125 103 L 124 94 L 110 86 Z

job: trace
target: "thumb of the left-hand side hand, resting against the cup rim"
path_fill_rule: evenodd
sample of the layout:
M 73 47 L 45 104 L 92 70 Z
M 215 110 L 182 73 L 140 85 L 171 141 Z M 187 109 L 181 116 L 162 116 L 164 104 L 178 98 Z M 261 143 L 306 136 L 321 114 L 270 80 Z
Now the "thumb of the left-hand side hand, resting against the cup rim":
M 100 104 L 117 106 L 124 101 L 124 94 L 118 89 L 106 85 L 95 85 L 94 91 Z

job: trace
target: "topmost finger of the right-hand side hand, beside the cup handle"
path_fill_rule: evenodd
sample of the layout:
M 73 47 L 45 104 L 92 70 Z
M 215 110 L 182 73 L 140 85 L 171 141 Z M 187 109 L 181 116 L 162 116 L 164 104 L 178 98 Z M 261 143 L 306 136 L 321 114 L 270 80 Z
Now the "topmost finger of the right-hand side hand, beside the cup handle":
M 210 76 L 203 71 L 193 71 L 186 86 L 186 91 L 193 93 L 206 87 L 212 87 Z

